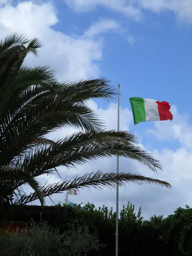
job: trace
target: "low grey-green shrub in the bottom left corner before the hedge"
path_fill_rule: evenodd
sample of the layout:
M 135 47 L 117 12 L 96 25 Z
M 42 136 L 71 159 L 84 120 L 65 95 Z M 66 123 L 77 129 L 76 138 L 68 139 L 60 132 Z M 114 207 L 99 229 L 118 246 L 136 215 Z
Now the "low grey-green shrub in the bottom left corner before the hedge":
M 87 226 L 76 227 L 64 234 L 46 222 L 34 221 L 29 229 L 19 234 L 6 230 L 0 236 L 0 256 L 80 256 L 89 250 L 98 250 L 99 241 L 90 235 Z

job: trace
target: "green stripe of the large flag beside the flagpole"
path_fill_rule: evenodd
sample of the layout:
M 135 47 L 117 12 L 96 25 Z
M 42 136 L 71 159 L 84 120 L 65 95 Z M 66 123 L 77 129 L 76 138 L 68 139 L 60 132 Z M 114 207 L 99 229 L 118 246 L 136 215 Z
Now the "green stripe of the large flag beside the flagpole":
M 133 111 L 134 124 L 146 121 L 145 102 L 143 98 L 130 98 L 131 108 Z

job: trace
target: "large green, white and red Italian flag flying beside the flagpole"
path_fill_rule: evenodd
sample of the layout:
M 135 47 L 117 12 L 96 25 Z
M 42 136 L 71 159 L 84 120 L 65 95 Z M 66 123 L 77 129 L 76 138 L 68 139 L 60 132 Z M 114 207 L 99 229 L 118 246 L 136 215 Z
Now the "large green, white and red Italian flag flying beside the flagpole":
M 158 102 L 155 99 L 130 98 L 134 116 L 134 124 L 145 121 L 172 120 L 173 116 L 168 102 Z

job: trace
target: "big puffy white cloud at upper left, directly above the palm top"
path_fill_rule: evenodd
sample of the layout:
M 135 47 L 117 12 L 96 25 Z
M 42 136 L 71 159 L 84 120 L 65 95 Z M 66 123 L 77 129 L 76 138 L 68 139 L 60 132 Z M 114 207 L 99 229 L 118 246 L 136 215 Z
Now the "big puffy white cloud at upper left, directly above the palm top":
M 99 76 L 97 62 L 102 59 L 103 42 L 100 32 L 119 28 L 115 20 L 94 23 L 84 35 L 66 35 L 52 26 L 59 22 L 51 3 L 22 2 L 17 6 L 0 8 L 0 37 L 19 31 L 38 37 L 44 44 L 40 58 L 30 56 L 27 63 L 47 64 L 54 68 L 61 79 L 76 80 Z

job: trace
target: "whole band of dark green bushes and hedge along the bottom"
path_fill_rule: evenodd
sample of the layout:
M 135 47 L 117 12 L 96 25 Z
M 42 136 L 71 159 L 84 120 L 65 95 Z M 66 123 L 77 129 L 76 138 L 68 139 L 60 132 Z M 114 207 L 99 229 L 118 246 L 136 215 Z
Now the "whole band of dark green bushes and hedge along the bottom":
M 116 213 L 105 205 L 71 207 L 58 204 L 62 211 L 49 224 L 34 222 L 29 230 L 0 237 L 0 256 L 114 256 Z M 96 236 L 97 234 L 97 236 Z M 98 250 L 99 249 L 99 250 Z M 128 202 L 119 215 L 119 256 L 191 256 L 192 209 L 179 207 L 163 218 L 152 215 L 144 220 Z

